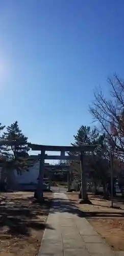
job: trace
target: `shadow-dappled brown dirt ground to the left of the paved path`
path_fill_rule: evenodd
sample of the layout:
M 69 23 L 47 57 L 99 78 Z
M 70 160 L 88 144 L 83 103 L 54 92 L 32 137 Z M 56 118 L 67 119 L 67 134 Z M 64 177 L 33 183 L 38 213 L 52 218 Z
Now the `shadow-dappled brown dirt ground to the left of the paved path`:
M 1 256 L 35 256 L 38 254 L 52 193 L 44 193 L 38 204 L 33 193 L 17 192 L 0 195 Z

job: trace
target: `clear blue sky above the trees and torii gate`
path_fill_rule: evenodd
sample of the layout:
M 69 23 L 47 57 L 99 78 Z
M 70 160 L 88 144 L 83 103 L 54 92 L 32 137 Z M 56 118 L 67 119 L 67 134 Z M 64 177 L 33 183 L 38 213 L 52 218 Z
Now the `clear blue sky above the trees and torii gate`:
M 68 145 L 90 125 L 93 90 L 123 74 L 121 0 L 1 0 L 1 122 L 33 143 Z

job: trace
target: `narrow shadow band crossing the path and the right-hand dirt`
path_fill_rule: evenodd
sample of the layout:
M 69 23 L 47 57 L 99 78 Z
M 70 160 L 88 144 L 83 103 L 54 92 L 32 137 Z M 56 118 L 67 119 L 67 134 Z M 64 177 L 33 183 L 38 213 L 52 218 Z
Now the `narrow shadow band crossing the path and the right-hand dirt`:
M 52 207 L 51 213 L 68 212 L 80 218 L 124 218 L 124 212 L 119 211 L 81 211 L 73 202 L 60 198 L 56 198 L 53 204 L 54 207 Z

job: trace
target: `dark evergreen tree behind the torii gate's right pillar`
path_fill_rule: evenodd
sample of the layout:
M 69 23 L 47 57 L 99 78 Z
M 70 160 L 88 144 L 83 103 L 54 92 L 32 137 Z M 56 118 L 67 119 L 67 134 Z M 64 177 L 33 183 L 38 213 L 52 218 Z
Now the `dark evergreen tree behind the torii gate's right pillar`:
M 97 187 L 102 183 L 104 191 L 106 190 L 106 184 L 108 181 L 109 163 L 106 157 L 106 136 L 100 135 L 97 129 L 91 130 L 90 126 L 82 125 L 75 138 L 74 143 L 71 145 L 83 146 L 83 145 L 97 145 L 93 153 L 85 153 L 84 164 L 86 168 L 87 177 Z M 78 155 L 79 153 L 76 153 Z M 73 168 L 73 174 L 77 176 L 77 180 L 80 179 L 80 161 L 71 161 Z

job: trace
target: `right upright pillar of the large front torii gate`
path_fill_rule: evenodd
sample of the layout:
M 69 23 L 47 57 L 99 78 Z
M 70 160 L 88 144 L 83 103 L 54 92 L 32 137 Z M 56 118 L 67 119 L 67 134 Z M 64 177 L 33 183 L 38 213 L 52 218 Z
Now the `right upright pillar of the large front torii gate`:
M 82 200 L 87 200 L 87 189 L 86 189 L 86 172 L 84 168 L 84 152 L 81 152 L 81 191 L 82 191 Z

